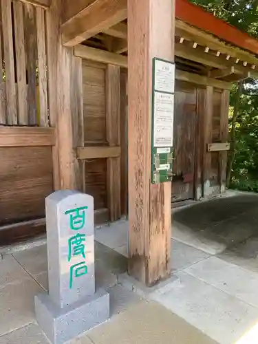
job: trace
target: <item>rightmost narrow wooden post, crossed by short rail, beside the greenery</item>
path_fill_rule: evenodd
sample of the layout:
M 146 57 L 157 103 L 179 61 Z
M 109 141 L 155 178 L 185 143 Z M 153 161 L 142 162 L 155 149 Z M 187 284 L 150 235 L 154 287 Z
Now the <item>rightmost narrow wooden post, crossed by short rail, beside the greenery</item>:
M 229 91 L 224 89 L 222 92 L 222 106 L 220 111 L 220 140 L 222 143 L 228 141 L 228 107 Z M 219 185 L 220 193 L 226 191 L 226 163 L 228 158 L 227 151 L 219 152 Z

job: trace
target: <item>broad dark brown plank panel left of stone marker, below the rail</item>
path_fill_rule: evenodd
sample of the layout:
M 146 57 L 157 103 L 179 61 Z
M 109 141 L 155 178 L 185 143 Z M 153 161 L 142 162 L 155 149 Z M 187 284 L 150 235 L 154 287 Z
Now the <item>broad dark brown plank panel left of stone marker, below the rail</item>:
M 53 191 L 51 147 L 0 148 L 0 225 L 45 215 Z

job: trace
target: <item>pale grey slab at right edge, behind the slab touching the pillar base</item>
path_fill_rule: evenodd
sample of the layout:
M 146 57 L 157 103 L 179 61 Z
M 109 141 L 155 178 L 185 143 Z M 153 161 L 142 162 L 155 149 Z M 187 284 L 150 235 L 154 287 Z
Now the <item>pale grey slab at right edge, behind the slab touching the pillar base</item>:
M 200 261 L 184 271 L 258 308 L 257 273 L 244 270 L 217 257 Z

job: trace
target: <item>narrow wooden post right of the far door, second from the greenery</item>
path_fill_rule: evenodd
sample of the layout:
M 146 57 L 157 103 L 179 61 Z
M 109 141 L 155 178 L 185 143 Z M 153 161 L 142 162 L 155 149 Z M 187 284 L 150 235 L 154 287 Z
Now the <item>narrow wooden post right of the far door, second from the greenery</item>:
M 204 102 L 204 146 L 203 146 L 203 185 L 204 197 L 208 197 L 211 193 L 210 176 L 211 176 L 211 152 L 207 151 L 208 143 L 212 143 L 213 129 L 213 87 L 206 87 L 206 95 Z

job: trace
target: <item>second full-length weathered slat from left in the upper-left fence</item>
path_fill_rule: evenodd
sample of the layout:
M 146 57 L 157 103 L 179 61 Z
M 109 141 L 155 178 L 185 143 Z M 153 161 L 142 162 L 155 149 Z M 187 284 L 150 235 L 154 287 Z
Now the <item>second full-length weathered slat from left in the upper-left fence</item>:
M 15 39 L 16 70 L 17 70 L 19 125 L 28 125 L 23 4 L 20 1 L 14 1 L 13 8 L 14 8 L 14 39 Z

